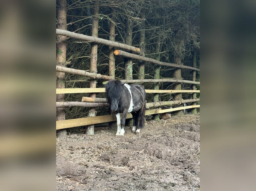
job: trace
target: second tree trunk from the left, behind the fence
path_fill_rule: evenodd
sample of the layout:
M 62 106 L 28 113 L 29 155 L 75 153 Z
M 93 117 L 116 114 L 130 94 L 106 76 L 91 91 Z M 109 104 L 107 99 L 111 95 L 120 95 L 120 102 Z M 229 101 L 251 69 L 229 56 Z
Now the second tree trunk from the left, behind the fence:
M 94 8 L 92 19 L 92 36 L 98 37 L 98 28 L 99 28 L 99 2 L 96 1 L 96 6 Z M 92 50 L 91 50 L 91 65 L 90 65 L 90 72 L 97 74 L 97 58 L 98 58 L 98 44 L 92 43 Z M 90 81 L 90 88 L 96 88 L 97 80 Z M 96 97 L 96 93 L 91 95 L 92 98 Z M 88 117 L 94 117 L 96 114 L 96 108 L 92 108 L 88 112 Z M 86 129 L 87 135 L 94 134 L 94 124 L 88 125 Z

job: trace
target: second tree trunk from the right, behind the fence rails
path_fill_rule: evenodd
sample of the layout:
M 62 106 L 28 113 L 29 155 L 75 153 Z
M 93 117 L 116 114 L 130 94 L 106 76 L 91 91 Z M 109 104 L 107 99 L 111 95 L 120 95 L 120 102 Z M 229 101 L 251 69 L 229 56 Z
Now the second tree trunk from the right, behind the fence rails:
M 182 65 L 181 63 L 181 57 L 176 55 L 174 56 L 174 63 L 178 64 L 178 65 Z M 173 78 L 176 78 L 178 80 L 181 79 L 181 69 L 176 69 L 173 72 Z M 174 84 L 173 90 L 181 90 L 181 84 L 180 83 L 176 83 Z M 182 99 L 182 94 L 181 93 L 177 93 L 174 95 L 173 97 L 174 100 L 181 100 Z M 178 110 L 176 112 L 176 115 L 183 115 L 183 110 Z

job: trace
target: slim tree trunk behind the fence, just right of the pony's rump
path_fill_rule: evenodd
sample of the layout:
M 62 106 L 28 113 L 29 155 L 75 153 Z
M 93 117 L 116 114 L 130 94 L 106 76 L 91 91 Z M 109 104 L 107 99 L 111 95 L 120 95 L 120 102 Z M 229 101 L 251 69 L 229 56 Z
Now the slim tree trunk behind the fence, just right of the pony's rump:
M 159 38 L 160 38 L 160 36 L 159 36 Z M 161 49 L 161 44 L 160 44 L 160 39 L 158 39 L 158 42 L 156 44 L 156 52 L 159 53 L 160 49 Z M 157 54 L 156 60 L 160 61 L 160 54 Z M 155 80 L 156 79 L 158 80 L 158 79 L 160 79 L 160 65 L 155 65 L 154 68 L 155 68 L 154 78 L 155 78 Z M 154 83 L 154 90 L 159 90 L 159 82 Z M 153 101 L 158 102 L 158 100 L 159 100 L 159 94 L 154 94 Z M 156 121 L 160 120 L 160 117 L 158 114 L 154 115 L 154 120 L 156 120 Z

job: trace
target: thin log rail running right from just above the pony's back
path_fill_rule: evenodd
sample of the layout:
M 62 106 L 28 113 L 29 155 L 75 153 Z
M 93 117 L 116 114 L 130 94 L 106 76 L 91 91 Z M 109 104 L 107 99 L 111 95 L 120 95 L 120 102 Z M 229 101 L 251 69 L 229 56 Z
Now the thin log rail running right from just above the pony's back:
M 187 84 L 200 84 L 200 82 L 193 82 L 189 80 L 175 80 L 175 79 L 146 79 L 146 80 L 120 80 L 122 83 L 156 83 L 156 82 L 174 82 Z

